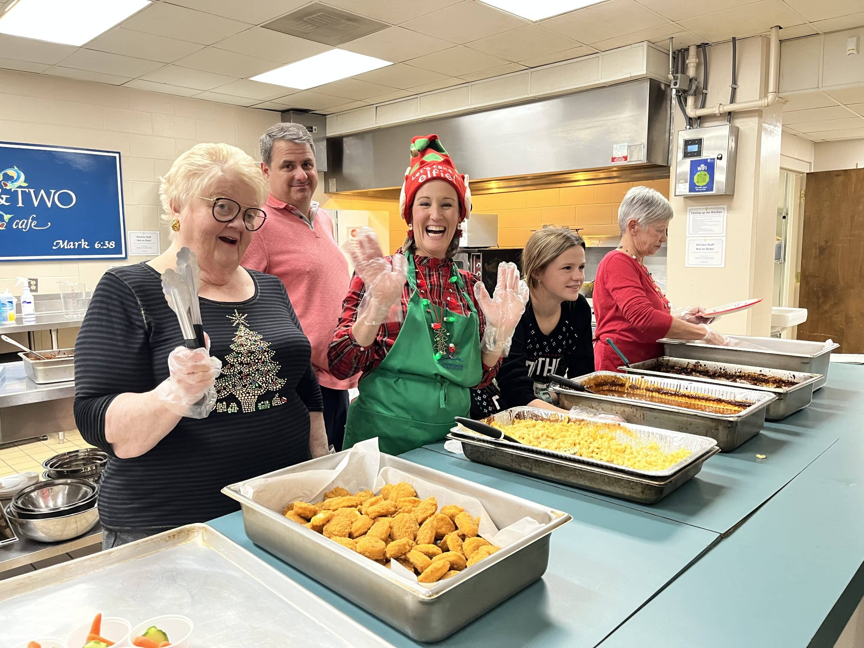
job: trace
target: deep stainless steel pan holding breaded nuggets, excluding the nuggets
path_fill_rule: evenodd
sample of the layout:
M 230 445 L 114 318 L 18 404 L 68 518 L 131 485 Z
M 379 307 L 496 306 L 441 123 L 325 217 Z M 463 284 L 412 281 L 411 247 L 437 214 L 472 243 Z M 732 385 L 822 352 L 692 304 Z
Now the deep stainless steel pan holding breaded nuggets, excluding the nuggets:
M 327 454 L 261 477 L 332 470 L 348 452 Z M 251 480 L 226 486 L 222 492 L 240 503 L 246 535 L 253 543 L 384 619 L 399 632 L 426 642 L 447 638 L 543 576 L 549 563 L 550 533 L 572 519 L 569 514 L 548 506 L 390 454 L 380 455 L 380 467 L 395 467 L 419 479 L 479 499 L 499 529 L 526 516 L 534 518 L 542 526 L 471 569 L 425 586 L 393 575 L 384 565 L 364 556 L 342 550 L 320 533 L 291 522 L 280 512 L 271 511 L 245 497 L 240 488 Z

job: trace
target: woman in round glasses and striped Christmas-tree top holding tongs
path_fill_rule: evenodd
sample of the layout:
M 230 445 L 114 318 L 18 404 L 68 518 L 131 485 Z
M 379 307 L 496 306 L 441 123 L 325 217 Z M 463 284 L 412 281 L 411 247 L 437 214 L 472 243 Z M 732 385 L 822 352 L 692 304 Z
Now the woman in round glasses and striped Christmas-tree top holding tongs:
M 226 484 L 327 454 L 310 347 L 283 283 L 240 266 L 267 181 L 242 150 L 198 144 L 160 187 L 171 245 L 105 272 L 75 345 L 75 420 L 109 454 L 103 546 L 236 509 Z M 181 346 L 160 275 L 200 266 L 208 347 Z

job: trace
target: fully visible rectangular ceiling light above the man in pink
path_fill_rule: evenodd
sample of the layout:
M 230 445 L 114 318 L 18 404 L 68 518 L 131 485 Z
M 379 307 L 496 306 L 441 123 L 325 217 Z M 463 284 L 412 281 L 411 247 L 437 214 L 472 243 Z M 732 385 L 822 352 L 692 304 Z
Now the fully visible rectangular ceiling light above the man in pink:
M 315 54 L 308 59 L 297 60 L 287 66 L 252 77 L 253 81 L 272 83 L 276 86 L 306 90 L 323 86 L 330 81 L 352 77 L 354 74 L 377 70 L 378 67 L 393 65 L 389 60 L 376 59 L 364 54 L 348 52 L 344 49 L 331 49 Z

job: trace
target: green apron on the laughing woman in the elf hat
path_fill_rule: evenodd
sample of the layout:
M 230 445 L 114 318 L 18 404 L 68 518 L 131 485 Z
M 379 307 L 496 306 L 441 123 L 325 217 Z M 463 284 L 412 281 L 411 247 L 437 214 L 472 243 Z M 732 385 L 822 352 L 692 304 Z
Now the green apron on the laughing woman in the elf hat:
M 342 448 L 377 436 L 381 452 L 402 454 L 442 441 L 454 426 L 454 416 L 468 416 L 469 388 L 483 378 L 480 318 L 464 292 L 464 278 L 458 275 L 456 287 L 471 314 L 448 313 L 454 316 L 448 330 L 456 353 L 435 361 L 432 314 L 417 292 L 413 255 L 406 256 L 411 298 L 405 321 L 381 364 L 360 379 L 360 394 L 348 409 Z

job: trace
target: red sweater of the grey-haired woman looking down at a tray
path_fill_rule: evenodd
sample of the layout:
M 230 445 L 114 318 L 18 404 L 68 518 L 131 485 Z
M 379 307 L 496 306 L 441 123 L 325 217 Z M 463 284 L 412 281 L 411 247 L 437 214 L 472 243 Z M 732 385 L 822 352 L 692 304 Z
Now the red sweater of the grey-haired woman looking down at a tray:
M 636 259 L 617 250 L 609 252 L 594 277 L 594 369 L 614 372 L 624 364 L 607 338 L 612 338 L 631 363 L 663 355 L 663 345 L 657 340 L 672 325 L 669 310 L 669 301 Z

